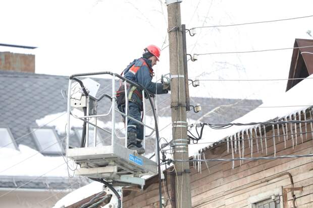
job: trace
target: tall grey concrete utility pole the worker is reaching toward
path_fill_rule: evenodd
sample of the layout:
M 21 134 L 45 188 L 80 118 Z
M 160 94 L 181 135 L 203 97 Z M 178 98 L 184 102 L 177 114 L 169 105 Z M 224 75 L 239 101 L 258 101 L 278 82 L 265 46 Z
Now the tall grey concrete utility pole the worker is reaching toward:
M 171 112 L 174 160 L 188 160 L 186 94 L 180 3 L 182 0 L 166 0 L 169 22 L 169 50 L 171 74 Z M 190 208 L 190 169 L 189 163 L 175 162 L 175 207 Z

